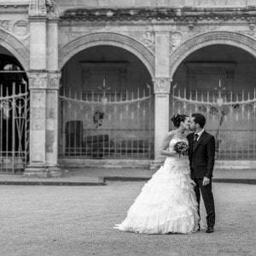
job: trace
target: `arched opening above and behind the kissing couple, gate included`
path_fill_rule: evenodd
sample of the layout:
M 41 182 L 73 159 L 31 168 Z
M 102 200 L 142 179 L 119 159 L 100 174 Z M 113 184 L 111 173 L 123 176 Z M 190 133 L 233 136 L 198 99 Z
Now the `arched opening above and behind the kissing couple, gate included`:
M 173 75 L 171 114 L 204 113 L 218 159 L 256 159 L 255 67 L 246 50 L 214 44 L 187 56 Z

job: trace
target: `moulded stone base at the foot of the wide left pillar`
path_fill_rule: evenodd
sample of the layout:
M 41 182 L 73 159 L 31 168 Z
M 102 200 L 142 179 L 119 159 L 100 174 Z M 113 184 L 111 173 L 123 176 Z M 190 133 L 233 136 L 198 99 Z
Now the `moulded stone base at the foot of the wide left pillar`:
M 61 177 L 61 169 L 57 166 L 27 166 L 23 173 L 25 177 Z

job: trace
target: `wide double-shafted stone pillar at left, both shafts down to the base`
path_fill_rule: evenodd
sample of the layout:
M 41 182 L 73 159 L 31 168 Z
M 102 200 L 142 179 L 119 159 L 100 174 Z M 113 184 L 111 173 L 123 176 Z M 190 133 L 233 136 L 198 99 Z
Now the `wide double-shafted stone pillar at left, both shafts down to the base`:
M 57 166 L 58 17 L 48 17 L 46 2 L 31 0 L 30 22 L 30 145 L 26 176 L 59 176 Z M 52 15 L 53 14 L 53 15 Z

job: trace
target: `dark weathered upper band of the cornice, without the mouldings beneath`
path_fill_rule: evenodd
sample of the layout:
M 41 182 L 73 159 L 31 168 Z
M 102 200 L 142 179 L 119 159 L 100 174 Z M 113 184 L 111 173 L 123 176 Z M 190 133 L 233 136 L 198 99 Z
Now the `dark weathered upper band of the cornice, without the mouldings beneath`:
M 155 8 L 155 9 L 68 9 L 61 20 L 184 20 L 186 18 L 227 20 L 256 16 L 256 7 L 247 8 Z

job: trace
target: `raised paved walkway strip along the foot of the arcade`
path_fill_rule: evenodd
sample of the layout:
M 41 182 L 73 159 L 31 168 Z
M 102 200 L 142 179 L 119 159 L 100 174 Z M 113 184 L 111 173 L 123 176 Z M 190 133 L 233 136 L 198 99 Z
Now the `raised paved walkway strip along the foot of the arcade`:
M 61 177 L 25 177 L 0 175 L 0 185 L 105 185 L 108 181 L 146 181 L 156 170 L 135 168 L 61 168 Z M 255 169 L 221 169 L 213 171 L 214 183 L 256 184 Z

